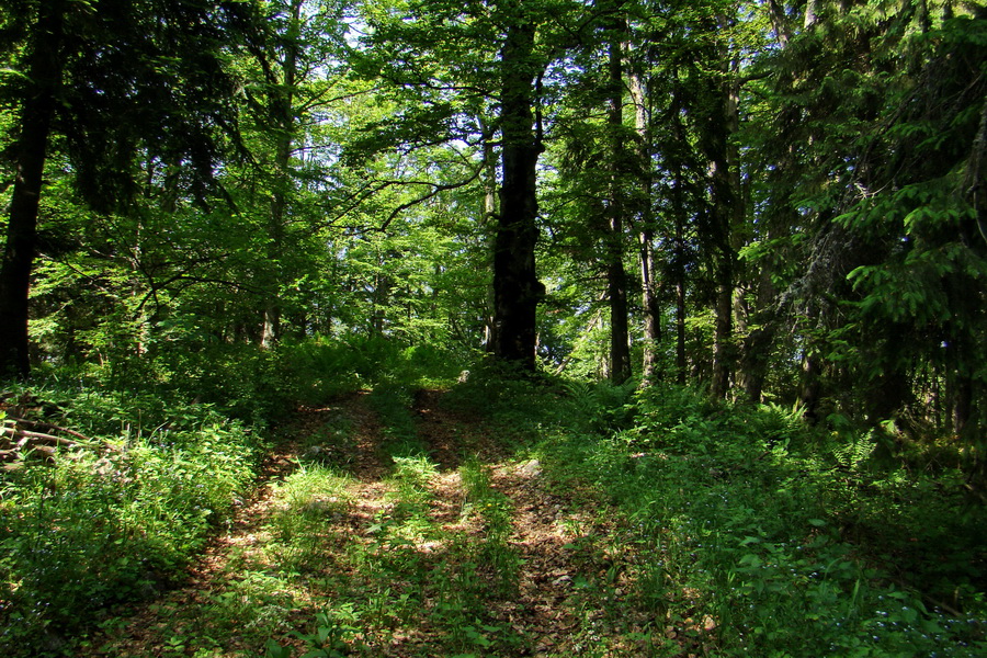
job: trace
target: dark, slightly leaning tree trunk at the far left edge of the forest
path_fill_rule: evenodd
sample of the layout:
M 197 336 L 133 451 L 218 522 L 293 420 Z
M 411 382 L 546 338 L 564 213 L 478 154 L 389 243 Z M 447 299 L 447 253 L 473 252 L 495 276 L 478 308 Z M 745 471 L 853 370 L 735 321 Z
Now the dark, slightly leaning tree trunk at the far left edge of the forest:
M 31 373 L 27 298 L 37 245 L 37 215 L 48 136 L 61 82 L 63 0 L 39 3 L 27 56 L 21 134 L 14 146 L 16 172 L 3 261 L 0 263 L 0 376 Z

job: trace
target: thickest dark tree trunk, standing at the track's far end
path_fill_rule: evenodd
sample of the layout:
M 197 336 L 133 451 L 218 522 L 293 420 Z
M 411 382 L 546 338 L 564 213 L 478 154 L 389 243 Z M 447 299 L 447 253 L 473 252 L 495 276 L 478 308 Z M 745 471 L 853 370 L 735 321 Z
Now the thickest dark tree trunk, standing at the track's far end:
M 535 26 L 520 0 L 506 2 L 507 37 L 501 59 L 503 183 L 494 240 L 494 354 L 523 370 L 535 368 L 535 311 L 545 286 L 535 271 L 538 213 L 535 166 L 542 152 L 534 132 Z

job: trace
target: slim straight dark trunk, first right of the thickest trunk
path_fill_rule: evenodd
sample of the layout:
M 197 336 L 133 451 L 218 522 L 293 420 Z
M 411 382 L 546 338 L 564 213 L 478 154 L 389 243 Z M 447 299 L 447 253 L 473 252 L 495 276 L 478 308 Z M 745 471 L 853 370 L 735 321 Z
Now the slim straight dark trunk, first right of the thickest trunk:
M 610 44 L 608 123 L 610 124 L 610 204 L 608 206 L 606 288 L 610 298 L 610 381 L 623 384 L 631 378 L 631 338 L 627 321 L 627 272 L 624 270 L 624 66 L 621 39 L 623 21 L 617 21 Z

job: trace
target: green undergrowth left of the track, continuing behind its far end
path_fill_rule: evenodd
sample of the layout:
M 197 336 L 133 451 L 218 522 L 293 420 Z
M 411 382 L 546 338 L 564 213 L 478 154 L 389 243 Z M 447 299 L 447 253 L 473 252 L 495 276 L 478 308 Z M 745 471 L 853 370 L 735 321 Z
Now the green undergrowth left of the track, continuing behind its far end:
M 156 595 L 237 503 L 254 477 L 262 436 L 297 404 L 376 387 L 382 408 L 398 408 L 392 402 L 410 387 L 458 374 L 443 350 L 383 339 L 152 348 L 143 358 L 42 364 L 30 388 L 2 392 L 38 400 L 46 422 L 94 442 L 63 451 L 53 464 L 26 460 L 2 476 L 2 655 L 70 651 L 69 638 L 84 637 L 102 610 Z M 395 454 L 413 454 L 413 431 L 398 421 L 390 423 L 402 446 Z M 353 446 L 338 441 L 345 428 L 324 434 L 304 447 L 313 462 L 352 458 Z M 279 531 L 281 559 L 299 568 L 315 548 L 291 541 L 307 536 L 292 535 L 291 523 L 305 518 L 288 517 Z

